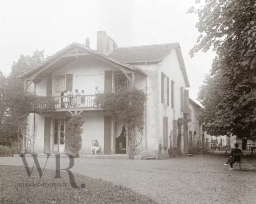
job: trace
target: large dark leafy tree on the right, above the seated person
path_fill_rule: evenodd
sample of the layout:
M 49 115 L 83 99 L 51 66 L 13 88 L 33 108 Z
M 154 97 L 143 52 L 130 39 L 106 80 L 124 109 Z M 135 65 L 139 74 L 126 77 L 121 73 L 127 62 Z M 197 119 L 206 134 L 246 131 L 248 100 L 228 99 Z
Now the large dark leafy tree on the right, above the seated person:
M 196 3 L 199 3 L 197 0 Z M 254 138 L 256 134 L 256 2 L 206 0 L 189 13 L 198 15 L 200 32 L 191 57 L 213 49 L 211 73 L 200 87 L 200 119 L 211 135 Z

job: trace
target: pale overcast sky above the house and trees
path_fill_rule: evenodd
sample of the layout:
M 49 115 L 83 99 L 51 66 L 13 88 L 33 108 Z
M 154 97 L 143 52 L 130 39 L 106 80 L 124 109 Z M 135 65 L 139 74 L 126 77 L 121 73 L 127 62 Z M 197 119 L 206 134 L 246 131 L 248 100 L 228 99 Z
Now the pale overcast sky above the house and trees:
M 118 47 L 179 42 L 190 82 L 190 98 L 209 72 L 214 53 L 188 52 L 199 32 L 197 17 L 186 14 L 194 0 L 9 0 L 0 6 L 0 70 L 9 74 L 20 54 L 44 49 L 52 55 L 104 30 Z

